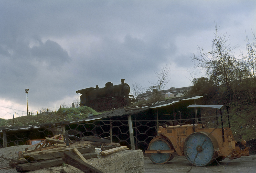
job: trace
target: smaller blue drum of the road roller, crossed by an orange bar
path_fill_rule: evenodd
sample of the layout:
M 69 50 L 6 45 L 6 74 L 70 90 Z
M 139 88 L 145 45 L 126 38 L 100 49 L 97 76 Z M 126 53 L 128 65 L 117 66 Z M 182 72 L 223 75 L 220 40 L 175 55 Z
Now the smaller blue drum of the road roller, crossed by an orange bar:
M 170 150 L 172 148 L 172 144 L 165 139 L 156 139 L 148 146 L 148 150 Z M 152 153 L 148 157 L 155 164 L 165 164 L 167 161 L 172 160 L 174 155 L 171 153 Z

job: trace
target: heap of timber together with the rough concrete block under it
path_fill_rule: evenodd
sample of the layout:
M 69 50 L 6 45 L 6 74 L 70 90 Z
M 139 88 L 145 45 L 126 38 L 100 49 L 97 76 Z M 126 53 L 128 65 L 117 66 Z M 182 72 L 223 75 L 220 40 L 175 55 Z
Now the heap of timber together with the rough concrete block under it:
M 58 136 L 58 135 L 57 135 Z M 105 139 L 88 138 L 68 145 L 63 140 L 46 138 L 43 144 L 35 144 L 19 152 L 19 158 L 9 163 L 17 172 L 69 164 L 83 172 L 144 172 L 141 150 L 127 150 L 127 146 L 104 143 Z M 94 140 L 94 141 L 93 141 Z M 70 141 L 71 142 L 71 141 Z M 108 141 L 107 141 L 108 142 Z M 130 171 L 129 171 L 130 170 Z

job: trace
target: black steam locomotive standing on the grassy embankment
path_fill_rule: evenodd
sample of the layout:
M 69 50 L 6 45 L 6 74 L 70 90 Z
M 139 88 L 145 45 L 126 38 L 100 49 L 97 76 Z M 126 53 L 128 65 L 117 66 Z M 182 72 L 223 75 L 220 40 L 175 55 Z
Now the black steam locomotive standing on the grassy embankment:
M 121 79 L 121 84 L 113 85 L 112 82 L 107 82 L 104 88 L 86 88 L 78 90 L 80 93 L 80 105 L 88 106 L 95 111 L 106 111 L 109 109 L 120 108 L 130 105 L 135 101 L 134 98 L 130 98 L 130 86 L 124 83 L 124 79 Z

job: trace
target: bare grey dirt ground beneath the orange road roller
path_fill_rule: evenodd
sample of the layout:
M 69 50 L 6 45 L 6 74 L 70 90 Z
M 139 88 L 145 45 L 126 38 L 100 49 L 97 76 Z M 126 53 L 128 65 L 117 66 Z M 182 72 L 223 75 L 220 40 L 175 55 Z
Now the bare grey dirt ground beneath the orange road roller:
M 255 173 L 256 172 L 256 155 L 242 156 L 237 159 L 224 159 L 219 164 L 211 164 L 205 167 L 192 166 L 185 156 L 175 156 L 171 161 L 164 165 L 153 164 L 148 157 L 144 157 L 145 172 L 150 173 Z M 191 170 L 190 170 L 191 169 Z

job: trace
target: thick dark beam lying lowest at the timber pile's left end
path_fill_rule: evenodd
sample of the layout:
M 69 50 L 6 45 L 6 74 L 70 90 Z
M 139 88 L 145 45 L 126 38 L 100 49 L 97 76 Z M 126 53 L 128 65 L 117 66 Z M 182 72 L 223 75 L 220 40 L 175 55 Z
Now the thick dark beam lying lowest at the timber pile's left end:
M 34 163 L 16 165 L 16 170 L 17 172 L 33 171 L 33 170 L 49 168 L 53 166 L 59 166 L 62 164 L 63 164 L 62 158 L 58 158 L 53 160 L 45 160 L 45 161 L 39 161 Z

